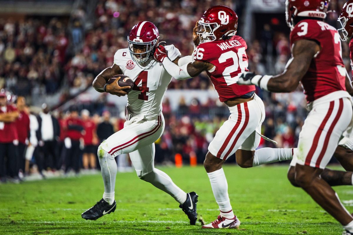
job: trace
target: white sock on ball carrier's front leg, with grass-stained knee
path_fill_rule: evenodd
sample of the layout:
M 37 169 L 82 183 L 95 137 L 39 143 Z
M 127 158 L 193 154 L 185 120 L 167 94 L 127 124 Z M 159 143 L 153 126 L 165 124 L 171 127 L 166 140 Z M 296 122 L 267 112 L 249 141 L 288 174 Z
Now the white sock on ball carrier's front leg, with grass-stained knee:
M 109 203 L 109 205 L 112 205 L 115 200 L 116 162 L 114 157 L 103 149 L 99 149 L 98 151 L 103 151 L 103 153 L 100 153 L 101 155 L 98 154 L 104 183 L 103 199 Z

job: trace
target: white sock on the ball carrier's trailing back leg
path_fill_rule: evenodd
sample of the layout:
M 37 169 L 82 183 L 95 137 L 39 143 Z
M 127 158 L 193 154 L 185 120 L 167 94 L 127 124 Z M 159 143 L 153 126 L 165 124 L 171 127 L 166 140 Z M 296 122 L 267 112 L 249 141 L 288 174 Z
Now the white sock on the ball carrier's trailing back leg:
M 183 204 L 186 201 L 186 192 L 175 185 L 169 175 L 161 170 L 154 168 L 152 172 L 144 175 L 142 179 L 151 183 L 156 188 L 168 193 L 180 204 Z

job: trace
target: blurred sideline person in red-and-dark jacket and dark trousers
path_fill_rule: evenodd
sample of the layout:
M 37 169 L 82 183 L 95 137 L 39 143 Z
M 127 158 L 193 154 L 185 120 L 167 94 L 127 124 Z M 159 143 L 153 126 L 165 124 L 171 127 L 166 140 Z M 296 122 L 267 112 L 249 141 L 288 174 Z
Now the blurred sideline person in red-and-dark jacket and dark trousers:
M 66 168 L 65 174 L 72 168 L 76 174 L 80 167 L 80 141 L 84 135 L 84 124 L 78 116 L 77 107 L 71 107 L 70 116 L 66 119 L 67 137 L 65 138 Z

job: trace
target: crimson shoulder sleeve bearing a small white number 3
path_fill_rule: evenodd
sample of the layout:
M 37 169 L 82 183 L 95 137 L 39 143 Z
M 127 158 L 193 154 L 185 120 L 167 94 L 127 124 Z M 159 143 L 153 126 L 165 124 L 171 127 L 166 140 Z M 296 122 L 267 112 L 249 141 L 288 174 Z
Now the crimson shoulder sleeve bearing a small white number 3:
M 291 44 L 300 39 L 307 39 L 318 42 L 317 38 L 319 36 L 319 30 L 321 30 L 321 27 L 318 25 L 317 20 L 300 21 L 294 26 L 291 32 Z

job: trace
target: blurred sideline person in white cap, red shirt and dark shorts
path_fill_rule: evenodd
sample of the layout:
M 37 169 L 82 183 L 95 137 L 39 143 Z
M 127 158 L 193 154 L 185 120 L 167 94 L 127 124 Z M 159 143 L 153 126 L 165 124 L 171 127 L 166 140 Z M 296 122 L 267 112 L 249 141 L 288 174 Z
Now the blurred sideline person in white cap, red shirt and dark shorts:
M 86 109 L 81 111 L 81 118 L 85 129 L 85 134 L 83 136 L 84 149 L 82 155 L 82 164 L 85 170 L 88 170 L 89 167 L 94 170 L 96 169 L 96 145 L 98 144 L 96 124 L 90 118 L 90 113 Z

